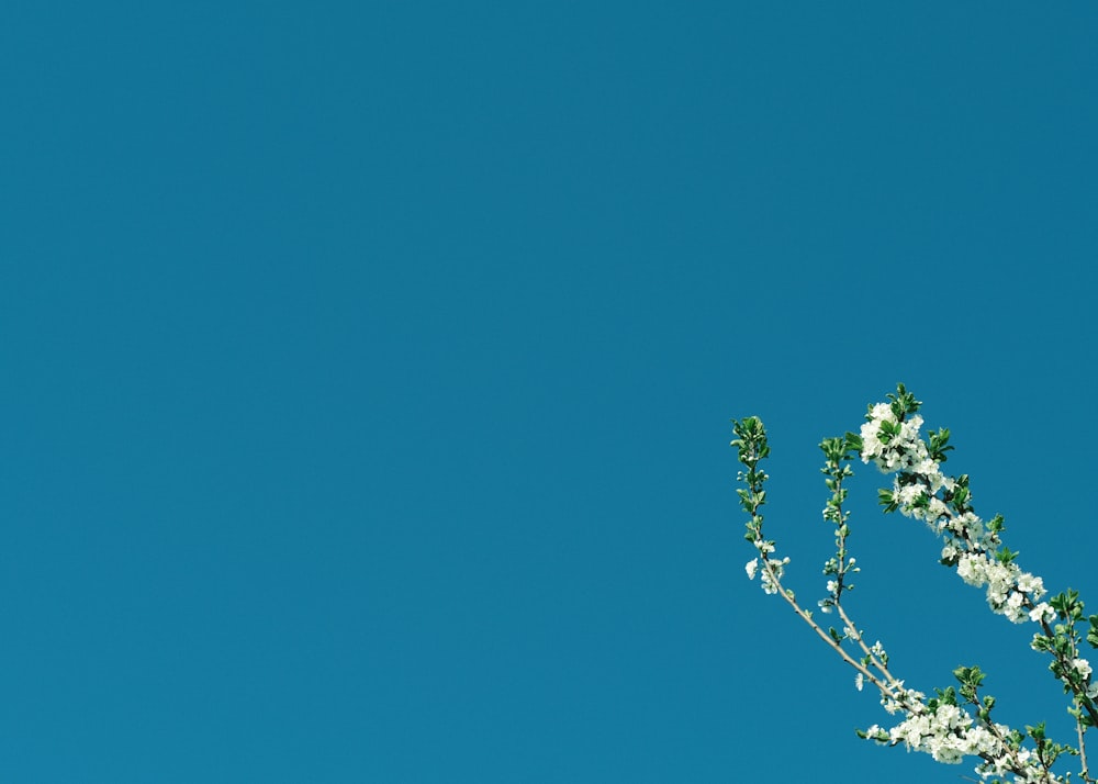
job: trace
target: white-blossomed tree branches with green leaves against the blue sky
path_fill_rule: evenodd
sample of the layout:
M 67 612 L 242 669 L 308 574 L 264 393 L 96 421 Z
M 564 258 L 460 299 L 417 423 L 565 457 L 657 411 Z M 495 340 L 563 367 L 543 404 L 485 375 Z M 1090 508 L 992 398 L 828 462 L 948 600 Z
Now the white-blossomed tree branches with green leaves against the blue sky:
M 858 730 L 862 738 L 885 746 L 904 743 L 908 749 L 923 751 L 943 763 L 960 763 L 963 758 L 977 758 L 975 771 L 991 784 L 1005 784 L 1007 776 L 1026 784 L 1067 783 L 1072 773 L 1054 771 L 1064 760 L 1075 758 L 1077 781 L 1094 784 L 1087 764 L 1086 733 L 1098 726 L 1098 682 L 1082 653 L 1084 640 L 1098 648 L 1098 615 L 1086 617 L 1078 593 L 1067 590 L 1045 598 L 1041 578 L 1022 571 L 1015 563 L 1017 552 L 1001 541 L 1002 517 L 981 519 L 971 505 L 968 477 L 952 477 L 942 470 L 950 432 L 939 429 L 927 438 L 920 435 L 921 403 L 899 384 L 887 403 L 871 405 L 860 434 L 847 433 L 820 444 L 824 450 L 824 474 L 831 493 L 824 509 L 824 519 L 834 526 L 836 551 L 824 564 L 827 595 L 818 602 L 821 613 L 837 617 L 839 628 L 825 629 L 814 614 L 797 602 L 783 579 L 789 559 L 778 555 L 773 539 L 763 535 L 762 506 L 766 503 L 766 473 L 760 462 L 770 453 L 766 430 L 758 417 L 733 419 L 736 439 L 731 445 L 739 451 L 743 470 L 737 492 L 740 505 L 750 516 L 747 535 L 757 551 L 748 561 L 748 576 L 758 576 L 762 590 L 781 596 L 816 635 L 855 671 L 859 688 L 867 682 L 881 693 L 884 709 L 897 717 L 890 728 L 874 725 Z M 865 631 L 856 626 L 843 605 L 845 592 L 853 587 L 851 578 L 859 571 L 850 556 L 850 513 L 843 508 L 847 488 L 843 482 L 853 475 L 850 463 L 875 464 L 892 474 L 892 486 L 878 491 L 885 513 L 899 512 L 923 520 L 941 539 L 941 563 L 955 569 L 968 585 L 986 589 L 987 604 L 993 613 L 1016 624 L 1034 624 L 1037 632 L 1030 646 L 1051 659 L 1049 669 L 1068 695 L 1068 713 L 1075 719 L 1076 737 L 1071 743 L 1055 742 L 1045 735 L 1044 724 L 1027 726 L 1024 731 L 994 720 L 995 698 L 982 691 L 984 673 L 978 667 L 961 667 L 953 671 L 957 686 L 934 690 L 929 697 L 908 688 L 903 679 L 888 667 L 888 654 L 879 641 L 869 643 Z

